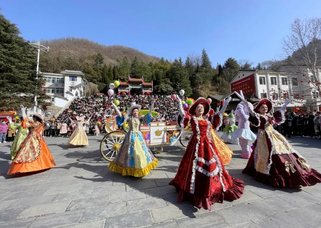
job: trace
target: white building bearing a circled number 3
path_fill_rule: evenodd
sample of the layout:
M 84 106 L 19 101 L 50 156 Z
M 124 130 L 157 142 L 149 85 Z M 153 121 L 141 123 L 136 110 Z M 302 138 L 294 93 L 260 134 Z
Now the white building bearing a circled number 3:
M 76 97 L 82 97 L 85 94 L 85 85 L 88 82 L 81 71 L 64 70 L 60 74 L 41 73 L 46 80 L 47 94 L 50 101 L 58 107 L 65 107 Z

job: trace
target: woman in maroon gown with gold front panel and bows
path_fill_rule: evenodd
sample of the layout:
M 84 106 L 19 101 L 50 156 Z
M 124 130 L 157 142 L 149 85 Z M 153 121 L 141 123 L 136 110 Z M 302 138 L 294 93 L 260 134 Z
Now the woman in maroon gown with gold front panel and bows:
M 267 114 L 272 109 L 272 103 L 267 99 L 262 99 L 254 110 L 249 108 L 244 98 L 241 100 L 250 112 L 249 121 L 259 127 L 253 153 L 242 172 L 253 176 L 255 180 L 282 188 L 320 183 L 321 174 L 311 169 L 286 138 L 272 127 L 274 121 L 277 124 L 284 122 L 284 112 L 291 98 L 272 114 Z

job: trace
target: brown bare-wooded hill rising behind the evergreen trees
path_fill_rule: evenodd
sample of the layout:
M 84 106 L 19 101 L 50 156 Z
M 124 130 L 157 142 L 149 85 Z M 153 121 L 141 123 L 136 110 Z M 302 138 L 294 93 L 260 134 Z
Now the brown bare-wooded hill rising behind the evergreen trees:
M 122 60 L 125 56 L 131 62 L 134 57 L 149 63 L 159 61 L 156 56 L 147 55 L 137 49 L 122 45 L 102 45 L 82 38 L 60 38 L 40 40 L 41 45 L 49 46 L 48 53 L 41 53 L 41 71 L 59 73 L 60 70 L 79 70 L 85 63 L 91 63 L 94 56 L 100 53 L 107 66 L 117 65 L 117 58 Z

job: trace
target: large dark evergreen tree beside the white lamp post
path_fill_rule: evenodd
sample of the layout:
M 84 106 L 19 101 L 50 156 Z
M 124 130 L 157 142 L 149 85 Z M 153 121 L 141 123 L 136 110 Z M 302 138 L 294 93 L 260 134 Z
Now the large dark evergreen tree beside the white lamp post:
M 48 99 L 41 75 L 36 79 L 37 52 L 22 37 L 15 24 L 0 13 L 0 108 L 19 109 L 19 105 L 38 105 Z M 47 104 L 46 104 L 47 105 Z

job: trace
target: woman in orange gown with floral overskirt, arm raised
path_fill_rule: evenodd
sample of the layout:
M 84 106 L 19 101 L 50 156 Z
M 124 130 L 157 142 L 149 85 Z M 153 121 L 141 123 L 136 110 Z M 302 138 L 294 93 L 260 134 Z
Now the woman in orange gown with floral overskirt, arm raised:
M 23 128 L 29 128 L 29 135 L 19 146 L 10 165 L 8 174 L 17 172 L 32 172 L 54 167 L 55 161 L 49 151 L 43 135 L 43 119 L 41 114 L 32 115 L 32 121 L 26 118 L 25 108 L 21 106 L 24 120 Z

